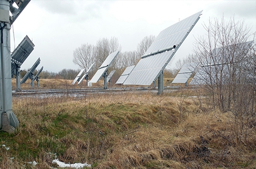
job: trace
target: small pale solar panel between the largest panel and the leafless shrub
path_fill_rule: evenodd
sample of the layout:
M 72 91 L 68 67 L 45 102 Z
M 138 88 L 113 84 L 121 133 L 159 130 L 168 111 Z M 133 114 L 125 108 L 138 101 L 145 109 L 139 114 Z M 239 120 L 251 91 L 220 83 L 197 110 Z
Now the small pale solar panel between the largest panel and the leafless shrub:
M 193 74 L 197 66 L 198 63 L 184 64 L 172 83 L 187 83 L 188 79 Z

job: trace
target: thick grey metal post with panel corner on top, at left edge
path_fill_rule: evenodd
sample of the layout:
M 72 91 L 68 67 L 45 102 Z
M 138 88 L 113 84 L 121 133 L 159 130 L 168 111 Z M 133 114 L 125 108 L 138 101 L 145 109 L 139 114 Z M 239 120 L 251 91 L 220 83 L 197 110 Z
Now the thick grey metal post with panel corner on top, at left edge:
M 14 132 L 15 127 L 19 126 L 12 111 L 10 28 L 29 2 L 30 0 L 0 0 L 0 128 L 8 133 Z M 18 8 L 13 7 L 13 3 Z

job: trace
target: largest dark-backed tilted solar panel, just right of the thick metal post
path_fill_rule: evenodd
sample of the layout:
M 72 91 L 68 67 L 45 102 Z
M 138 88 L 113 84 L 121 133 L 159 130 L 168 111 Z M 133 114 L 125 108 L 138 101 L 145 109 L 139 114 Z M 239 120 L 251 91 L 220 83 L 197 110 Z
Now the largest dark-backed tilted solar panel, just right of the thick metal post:
M 16 47 L 16 49 L 11 54 L 11 68 L 12 76 L 15 74 L 16 65 L 21 66 L 24 61 L 28 58 L 31 52 L 34 50 L 35 45 L 26 35 L 22 42 Z

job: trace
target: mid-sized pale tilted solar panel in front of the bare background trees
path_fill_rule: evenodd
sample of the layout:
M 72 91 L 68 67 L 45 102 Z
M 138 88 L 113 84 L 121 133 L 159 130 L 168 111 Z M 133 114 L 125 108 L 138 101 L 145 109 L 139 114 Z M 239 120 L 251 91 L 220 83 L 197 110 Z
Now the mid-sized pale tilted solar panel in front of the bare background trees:
M 112 54 L 110 54 L 105 61 L 101 64 L 101 66 L 98 68 L 96 74 L 93 76 L 93 78 L 90 80 L 90 83 L 96 83 L 99 81 L 99 79 L 104 75 L 104 73 L 106 72 L 106 70 L 108 70 L 110 64 L 113 62 L 113 60 L 115 59 L 115 57 L 117 56 L 117 54 L 119 53 L 119 51 L 113 52 Z

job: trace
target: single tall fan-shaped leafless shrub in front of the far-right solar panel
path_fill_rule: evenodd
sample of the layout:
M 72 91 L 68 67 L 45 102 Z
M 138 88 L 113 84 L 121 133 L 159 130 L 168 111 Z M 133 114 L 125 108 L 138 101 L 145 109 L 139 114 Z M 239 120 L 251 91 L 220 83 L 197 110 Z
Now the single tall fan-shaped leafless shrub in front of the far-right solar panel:
M 230 109 L 234 89 L 241 78 L 240 65 L 245 63 L 246 54 L 251 50 L 248 46 L 249 30 L 244 21 L 225 22 L 215 19 L 204 25 L 207 38 L 197 40 L 195 53 L 198 62 L 207 75 L 204 79 L 207 90 L 212 94 L 212 102 L 221 111 Z

